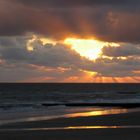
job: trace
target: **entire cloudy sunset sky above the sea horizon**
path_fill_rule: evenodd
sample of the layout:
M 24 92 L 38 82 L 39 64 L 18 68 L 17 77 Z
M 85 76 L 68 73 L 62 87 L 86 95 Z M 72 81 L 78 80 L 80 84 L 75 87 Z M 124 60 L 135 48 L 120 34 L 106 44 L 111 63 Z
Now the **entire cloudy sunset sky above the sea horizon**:
M 140 82 L 140 0 L 0 0 L 0 82 Z

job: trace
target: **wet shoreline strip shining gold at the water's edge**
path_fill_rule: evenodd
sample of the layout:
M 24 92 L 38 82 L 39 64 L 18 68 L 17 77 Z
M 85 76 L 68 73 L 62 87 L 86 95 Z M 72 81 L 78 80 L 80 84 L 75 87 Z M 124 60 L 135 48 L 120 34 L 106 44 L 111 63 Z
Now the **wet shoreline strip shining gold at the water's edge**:
M 67 108 L 68 109 L 68 108 Z M 21 115 L 24 115 L 24 113 L 20 114 L 20 118 L 15 118 L 15 119 L 8 119 L 8 120 L 1 120 L 0 122 L 0 128 L 1 126 L 7 126 L 7 125 L 13 125 L 14 124 L 24 124 L 24 123 L 38 123 L 38 122 L 53 122 L 56 120 L 65 120 L 65 119 L 77 119 L 77 118 L 106 118 L 108 116 L 108 118 L 110 116 L 114 116 L 114 115 L 121 115 L 121 114 L 129 114 L 132 112 L 140 112 L 140 108 L 119 108 L 119 107 L 112 107 L 112 108 L 102 108 L 100 107 L 99 109 L 96 108 L 85 108 L 83 111 L 77 111 L 77 112 L 67 112 L 66 114 L 61 114 L 61 115 L 51 115 L 48 116 L 47 114 L 38 114 L 38 115 L 29 115 L 26 117 L 21 117 Z M 78 120 L 79 120 L 78 119 Z

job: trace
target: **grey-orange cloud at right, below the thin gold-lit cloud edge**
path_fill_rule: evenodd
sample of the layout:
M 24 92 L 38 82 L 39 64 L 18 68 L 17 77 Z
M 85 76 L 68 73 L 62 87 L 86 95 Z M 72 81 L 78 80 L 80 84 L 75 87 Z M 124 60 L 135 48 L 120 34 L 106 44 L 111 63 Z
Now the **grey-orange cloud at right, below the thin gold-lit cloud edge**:
M 97 71 L 100 76 L 107 77 L 136 76 L 134 71 L 140 70 L 140 59 L 128 58 L 126 60 L 123 60 L 120 58 L 114 58 L 110 60 L 108 58 L 100 58 L 96 61 L 96 63 L 94 63 L 93 67 L 90 68 L 91 70 Z

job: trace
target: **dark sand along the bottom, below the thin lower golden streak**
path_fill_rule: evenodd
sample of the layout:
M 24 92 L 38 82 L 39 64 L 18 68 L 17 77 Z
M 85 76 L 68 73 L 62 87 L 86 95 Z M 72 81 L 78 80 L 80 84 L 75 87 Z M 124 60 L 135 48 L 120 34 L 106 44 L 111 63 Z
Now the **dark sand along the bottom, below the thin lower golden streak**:
M 139 140 L 140 129 L 20 131 L 0 133 L 1 140 Z

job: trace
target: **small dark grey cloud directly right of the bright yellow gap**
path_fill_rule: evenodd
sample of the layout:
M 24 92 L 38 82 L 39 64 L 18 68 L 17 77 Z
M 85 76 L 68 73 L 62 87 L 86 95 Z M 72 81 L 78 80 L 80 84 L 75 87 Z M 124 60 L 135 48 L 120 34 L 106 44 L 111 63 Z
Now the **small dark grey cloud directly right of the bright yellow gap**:
M 103 55 L 109 57 L 127 57 L 127 56 L 140 56 L 140 45 L 123 44 L 119 47 L 105 46 Z

